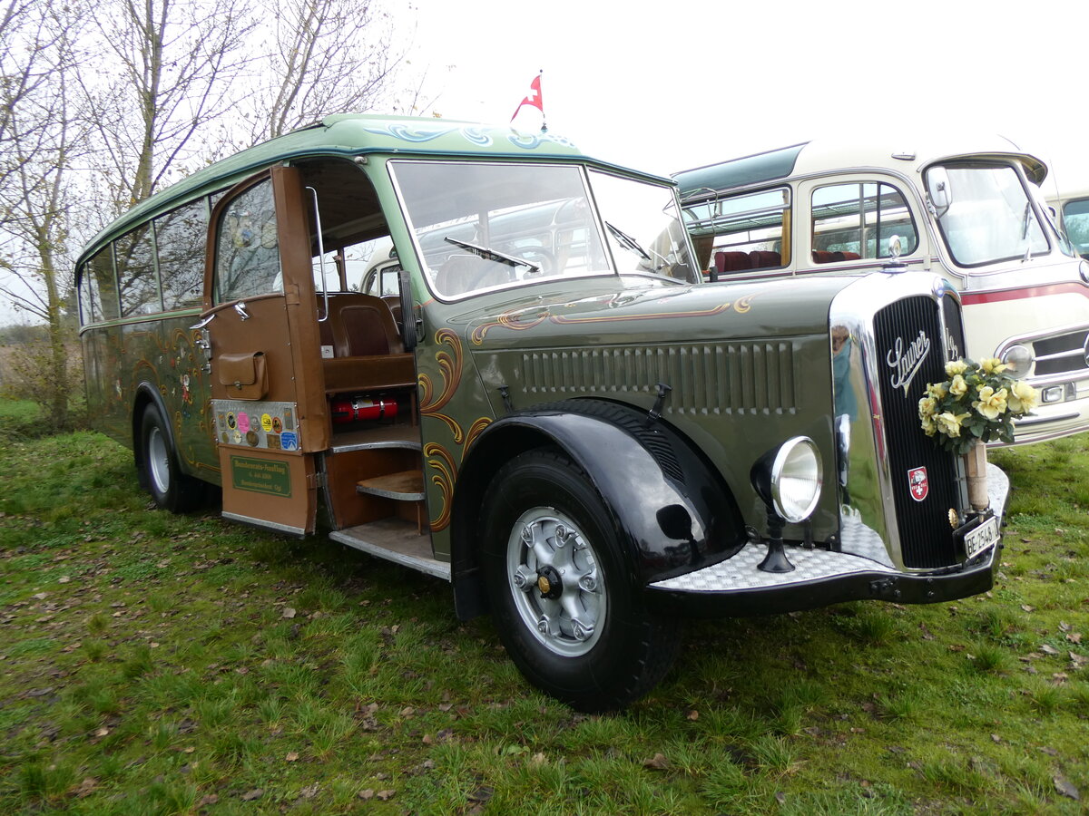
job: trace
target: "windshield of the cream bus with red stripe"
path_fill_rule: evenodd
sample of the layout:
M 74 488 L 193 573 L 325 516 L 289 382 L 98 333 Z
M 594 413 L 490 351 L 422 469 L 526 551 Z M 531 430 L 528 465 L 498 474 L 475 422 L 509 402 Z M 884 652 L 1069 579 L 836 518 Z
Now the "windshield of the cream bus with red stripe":
M 947 164 L 950 206 L 938 224 L 953 260 L 962 267 L 1025 258 L 1048 251 L 1048 239 L 1017 171 L 1010 165 Z M 929 186 L 929 178 L 928 178 Z

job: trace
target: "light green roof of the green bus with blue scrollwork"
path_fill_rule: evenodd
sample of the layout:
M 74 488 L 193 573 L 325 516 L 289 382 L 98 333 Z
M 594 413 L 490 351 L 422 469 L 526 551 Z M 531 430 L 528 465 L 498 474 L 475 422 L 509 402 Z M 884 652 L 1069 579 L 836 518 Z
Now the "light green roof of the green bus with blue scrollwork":
M 209 164 L 138 202 L 84 246 L 76 265 L 142 221 L 199 196 L 224 189 L 264 168 L 304 156 L 353 158 L 367 153 L 577 159 L 601 166 L 613 166 L 646 178 L 671 181 L 590 159 L 579 152 L 570 139 L 551 133 L 533 133 L 510 126 L 445 119 L 342 113 L 326 116 L 313 125 Z

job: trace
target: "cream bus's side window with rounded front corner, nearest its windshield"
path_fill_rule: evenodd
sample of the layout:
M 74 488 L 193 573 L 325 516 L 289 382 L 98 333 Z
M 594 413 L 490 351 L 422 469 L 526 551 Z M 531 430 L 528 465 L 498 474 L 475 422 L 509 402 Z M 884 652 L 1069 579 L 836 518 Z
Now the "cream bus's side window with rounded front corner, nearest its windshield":
M 900 236 L 902 255 L 919 246 L 907 201 L 892 185 L 832 184 L 813 190 L 810 246 L 815 263 L 888 258 L 893 235 Z

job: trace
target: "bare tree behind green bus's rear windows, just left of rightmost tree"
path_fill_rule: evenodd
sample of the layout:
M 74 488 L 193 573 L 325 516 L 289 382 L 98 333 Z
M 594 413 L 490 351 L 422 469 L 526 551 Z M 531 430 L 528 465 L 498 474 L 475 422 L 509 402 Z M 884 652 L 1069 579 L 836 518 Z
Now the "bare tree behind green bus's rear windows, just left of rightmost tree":
M 238 103 L 254 22 L 235 0 L 112 0 L 94 16 L 107 49 L 81 82 L 112 202 L 126 209 L 215 154 L 197 134 Z

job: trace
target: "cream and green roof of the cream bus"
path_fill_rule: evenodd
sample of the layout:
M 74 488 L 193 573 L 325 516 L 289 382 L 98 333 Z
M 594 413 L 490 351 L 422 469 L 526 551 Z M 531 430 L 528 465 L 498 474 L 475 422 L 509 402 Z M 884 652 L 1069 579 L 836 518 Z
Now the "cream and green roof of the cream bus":
M 878 140 L 820 139 L 768 150 L 752 156 L 674 173 L 682 198 L 701 193 L 772 183 L 791 176 L 849 171 L 861 168 L 894 168 L 921 171 L 935 161 L 964 157 L 1017 161 L 1029 181 L 1040 184 L 1048 165 L 1001 136 L 978 138 L 910 139 L 895 146 Z

